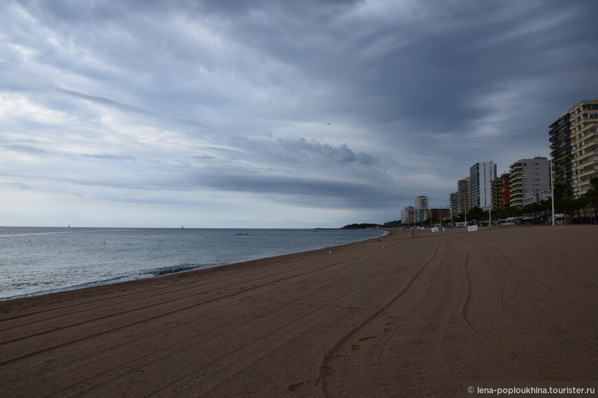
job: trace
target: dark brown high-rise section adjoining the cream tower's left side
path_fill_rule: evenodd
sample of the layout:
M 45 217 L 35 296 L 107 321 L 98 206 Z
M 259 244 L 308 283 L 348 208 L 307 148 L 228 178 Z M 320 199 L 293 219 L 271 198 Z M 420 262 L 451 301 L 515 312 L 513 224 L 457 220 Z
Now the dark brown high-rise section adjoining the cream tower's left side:
M 567 112 L 550 125 L 550 148 L 553 162 L 553 184 L 563 183 L 573 189 L 573 154 L 571 153 L 571 121 Z

